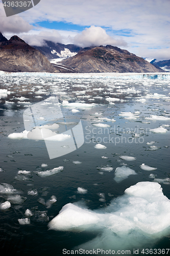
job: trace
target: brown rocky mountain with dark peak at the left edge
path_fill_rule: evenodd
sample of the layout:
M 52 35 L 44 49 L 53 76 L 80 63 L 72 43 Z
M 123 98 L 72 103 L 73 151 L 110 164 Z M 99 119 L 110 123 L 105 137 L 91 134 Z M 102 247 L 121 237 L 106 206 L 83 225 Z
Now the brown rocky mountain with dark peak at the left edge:
M 0 33 L 0 70 L 9 72 L 59 72 L 38 50 L 14 35 Z

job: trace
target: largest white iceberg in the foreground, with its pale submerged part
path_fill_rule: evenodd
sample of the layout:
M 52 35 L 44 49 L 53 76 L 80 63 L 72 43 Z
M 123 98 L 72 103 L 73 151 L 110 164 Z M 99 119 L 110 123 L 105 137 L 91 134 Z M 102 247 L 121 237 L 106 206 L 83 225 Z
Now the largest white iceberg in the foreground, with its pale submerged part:
M 156 182 L 138 182 L 102 209 L 90 210 L 82 207 L 82 203 L 78 205 L 64 205 L 48 223 L 48 228 L 54 230 L 99 232 L 78 248 L 148 248 L 169 234 L 170 200 Z

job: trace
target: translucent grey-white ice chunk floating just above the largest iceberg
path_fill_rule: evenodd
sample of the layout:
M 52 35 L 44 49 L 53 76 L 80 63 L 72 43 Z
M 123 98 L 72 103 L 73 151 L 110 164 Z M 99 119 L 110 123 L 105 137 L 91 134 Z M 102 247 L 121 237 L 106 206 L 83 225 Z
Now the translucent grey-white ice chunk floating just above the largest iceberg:
M 122 167 L 116 168 L 114 180 L 118 183 L 128 178 L 129 175 L 135 175 L 135 174 L 136 172 L 133 169 L 126 167 L 124 165 Z

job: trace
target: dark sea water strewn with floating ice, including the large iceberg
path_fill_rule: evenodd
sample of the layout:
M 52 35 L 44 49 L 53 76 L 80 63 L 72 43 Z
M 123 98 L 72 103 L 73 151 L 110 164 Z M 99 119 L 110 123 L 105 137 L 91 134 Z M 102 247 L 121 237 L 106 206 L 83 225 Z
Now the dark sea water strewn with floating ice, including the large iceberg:
M 0 98 L 0 255 L 170 254 L 168 73 L 2 72 Z

